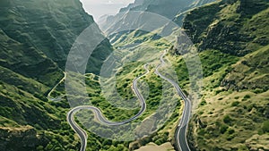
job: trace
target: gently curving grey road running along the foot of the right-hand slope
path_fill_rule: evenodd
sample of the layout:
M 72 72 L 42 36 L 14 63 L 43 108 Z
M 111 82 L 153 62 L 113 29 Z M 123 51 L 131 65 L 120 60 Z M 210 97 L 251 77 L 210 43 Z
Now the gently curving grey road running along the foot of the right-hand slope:
M 163 56 L 166 55 L 166 51 L 161 55 L 161 64 L 159 64 L 155 70 L 155 73 L 159 75 L 162 79 L 168 80 L 169 83 L 171 83 L 174 88 L 176 88 L 178 96 L 181 96 L 181 98 L 184 100 L 184 110 L 182 117 L 180 119 L 180 122 L 178 123 L 176 133 L 175 133 L 175 139 L 176 139 L 176 149 L 181 151 L 190 151 L 190 148 L 187 144 L 187 125 L 189 122 L 189 118 L 191 115 L 191 101 L 189 98 L 184 94 L 182 89 L 178 86 L 178 83 L 170 80 L 169 78 L 161 75 L 161 73 L 158 71 L 158 69 L 165 64 L 163 60 Z

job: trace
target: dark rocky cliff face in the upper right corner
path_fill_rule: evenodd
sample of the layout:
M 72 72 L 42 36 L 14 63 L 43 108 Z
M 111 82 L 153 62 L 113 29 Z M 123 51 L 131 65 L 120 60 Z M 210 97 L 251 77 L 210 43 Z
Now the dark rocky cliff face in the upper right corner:
M 261 34 L 267 26 L 267 14 L 256 18 L 267 8 L 265 0 L 221 1 L 190 12 L 183 28 L 200 51 L 212 48 L 230 55 L 247 55 L 256 46 L 268 44 L 268 38 Z

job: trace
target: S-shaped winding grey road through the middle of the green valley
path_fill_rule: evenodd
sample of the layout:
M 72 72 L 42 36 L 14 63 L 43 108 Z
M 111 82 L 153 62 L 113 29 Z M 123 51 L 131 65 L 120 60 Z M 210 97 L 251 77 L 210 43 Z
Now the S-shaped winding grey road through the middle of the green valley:
M 100 109 L 91 105 L 81 105 L 81 106 L 76 106 L 73 109 L 71 109 L 67 115 L 66 115 L 66 120 L 69 123 L 69 125 L 72 127 L 72 129 L 76 132 L 76 134 L 79 136 L 79 138 L 81 139 L 82 142 L 82 146 L 81 146 L 81 151 L 85 151 L 86 147 L 87 147 L 87 138 L 88 135 L 86 133 L 85 130 L 82 130 L 82 128 L 74 121 L 74 114 L 77 113 L 80 110 L 91 110 L 94 113 L 94 117 L 103 124 L 109 125 L 109 126 L 116 126 L 116 125 L 123 125 L 127 122 L 132 122 L 135 119 L 137 119 L 146 109 L 146 103 L 145 100 L 143 98 L 143 96 L 141 95 L 141 93 L 138 91 L 137 89 L 137 81 L 142 78 L 144 75 L 146 75 L 147 73 L 149 73 L 149 70 L 147 68 L 147 64 L 145 64 L 144 69 L 146 70 L 145 73 L 143 73 L 142 75 L 140 75 L 139 77 L 135 78 L 133 81 L 133 90 L 135 95 L 139 98 L 140 100 L 140 105 L 141 105 L 141 109 L 138 113 L 136 113 L 133 117 L 131 117 L 130 119 L 127 119 L 126 121 L 123 122 L 109 122 L 108 119 L 106 119 L 104 117 L 104 115 L 101 113 Z

